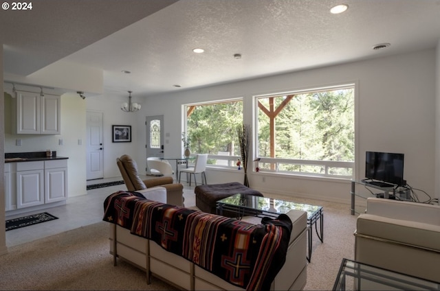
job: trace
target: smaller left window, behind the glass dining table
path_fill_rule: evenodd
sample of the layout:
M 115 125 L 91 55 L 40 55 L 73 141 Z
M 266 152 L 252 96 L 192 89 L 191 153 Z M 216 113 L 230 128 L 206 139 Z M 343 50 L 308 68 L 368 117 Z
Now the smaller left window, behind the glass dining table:
M 233 166 L 240 155 L 236 127 L 243 124 L 243 102 L 188 104 L 186 136 L 192 154 L 209 154 L 208 164 Z

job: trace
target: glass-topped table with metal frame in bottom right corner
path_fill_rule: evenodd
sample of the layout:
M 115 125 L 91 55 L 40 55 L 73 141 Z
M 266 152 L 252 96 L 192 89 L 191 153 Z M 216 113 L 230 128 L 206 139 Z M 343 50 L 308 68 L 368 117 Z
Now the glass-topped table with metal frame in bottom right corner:
M 440 283 L 342 259 L 333 290 L 440 290 Z

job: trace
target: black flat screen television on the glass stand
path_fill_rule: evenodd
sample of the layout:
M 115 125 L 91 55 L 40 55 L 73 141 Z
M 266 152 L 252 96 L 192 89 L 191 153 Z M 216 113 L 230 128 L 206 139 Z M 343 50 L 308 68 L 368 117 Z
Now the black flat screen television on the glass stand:
M 406 181 L 404 181 L 404 154 L 366 152 L 365 177 L 397 186 L 406 185 Z

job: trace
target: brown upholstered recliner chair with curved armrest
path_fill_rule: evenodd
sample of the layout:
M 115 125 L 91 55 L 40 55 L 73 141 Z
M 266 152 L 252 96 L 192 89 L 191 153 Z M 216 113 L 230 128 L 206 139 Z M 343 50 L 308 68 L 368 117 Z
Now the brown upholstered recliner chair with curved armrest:
M 160 186 L 166 188 L 166 203 L 178 206 L 184 205 L 184 185 L 173 183 L 173 177 L 165 176 L 142 180 L 137 172 L 136 162 L 128 154 L 116 159 L 116 163 L 128 191 L 142 193 L 143 189 Z

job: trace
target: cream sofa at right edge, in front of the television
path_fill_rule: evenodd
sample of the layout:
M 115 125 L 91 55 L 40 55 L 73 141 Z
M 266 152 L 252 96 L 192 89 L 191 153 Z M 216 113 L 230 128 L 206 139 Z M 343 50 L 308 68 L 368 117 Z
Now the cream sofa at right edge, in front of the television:
M 357 220 L 355 261 L 440 282 L 440 207 L 368 198 Z

